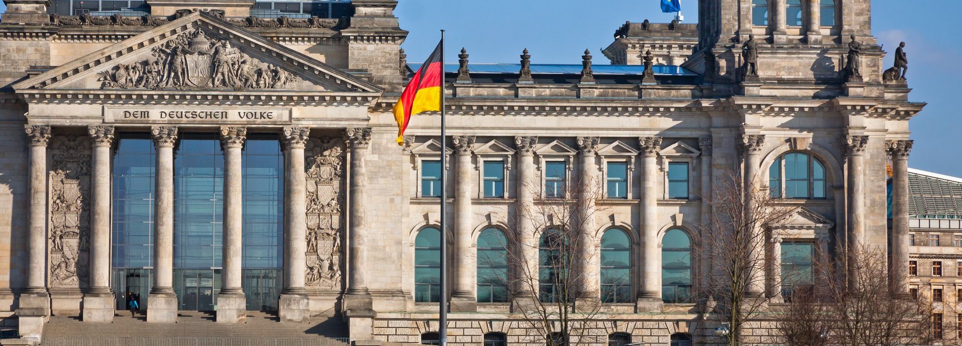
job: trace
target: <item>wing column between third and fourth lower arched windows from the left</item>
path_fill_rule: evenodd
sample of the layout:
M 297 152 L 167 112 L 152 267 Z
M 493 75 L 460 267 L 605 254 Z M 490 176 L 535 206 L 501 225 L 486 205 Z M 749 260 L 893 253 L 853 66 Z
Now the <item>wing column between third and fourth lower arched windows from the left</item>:
M 576 197 L 579 210 L 575 215 L 580 223 L 578 228 L 578 252 L 579 273 L 577 299 L 584 302 L 580 306 L 585 309 L 593 309 L 600 297 L 601 283 L 601 261 L 598 259 L 598 242 L 595 236 L 595 199 L 600 191 L 597 179 L 596 150 L 601 143 L 600 137 L 582 136 L 577 138 L 578 159 L 580 162 L 581 174 L 576 188 Z

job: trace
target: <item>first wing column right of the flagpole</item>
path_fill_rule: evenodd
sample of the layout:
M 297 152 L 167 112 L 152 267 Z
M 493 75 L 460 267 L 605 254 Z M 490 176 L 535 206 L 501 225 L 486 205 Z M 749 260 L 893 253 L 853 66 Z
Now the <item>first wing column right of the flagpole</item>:
M 474 295 L 476 252 L 471 251 L 471 149 L 474 136 L 453 136 L 454 144 L 454 291 L 451 294 L 451 311 L 477 310 Z

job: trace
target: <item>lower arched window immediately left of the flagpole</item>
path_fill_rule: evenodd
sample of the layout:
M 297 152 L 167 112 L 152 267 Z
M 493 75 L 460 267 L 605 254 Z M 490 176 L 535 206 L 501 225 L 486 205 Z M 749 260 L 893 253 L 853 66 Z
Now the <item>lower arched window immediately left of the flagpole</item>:
M 441 297 L 441 231 L 428 227 L 415 238 L 415 302 Z

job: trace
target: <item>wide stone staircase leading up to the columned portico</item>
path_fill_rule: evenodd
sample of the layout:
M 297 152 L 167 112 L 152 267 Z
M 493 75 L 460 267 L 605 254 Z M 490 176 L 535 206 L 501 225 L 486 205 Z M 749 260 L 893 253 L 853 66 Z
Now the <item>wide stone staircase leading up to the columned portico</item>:
M 40 345 L 171 346 L 347 346 L 347 325 L 340 317 L 314 317 L 281 323 L 277 316 L 247 311 L 242 324 L 215 322 L 213 312 L 180 311 L 177 323 L 147 323 L 139 313 L 116 311 L 112 323 L 87 323 L 80 317 L 50 317 Z

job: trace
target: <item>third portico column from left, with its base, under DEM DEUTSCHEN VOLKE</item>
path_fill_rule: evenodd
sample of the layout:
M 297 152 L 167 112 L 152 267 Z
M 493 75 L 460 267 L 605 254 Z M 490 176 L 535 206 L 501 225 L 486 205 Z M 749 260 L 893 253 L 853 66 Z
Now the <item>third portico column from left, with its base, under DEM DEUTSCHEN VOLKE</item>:
M 177 321 L 174 265 L 174 142 L 177 127 L 152 127 L 157 163 L 154 167 L 154 286 L 148 296 L 147 322 Z

